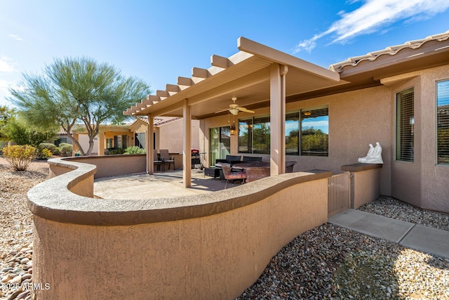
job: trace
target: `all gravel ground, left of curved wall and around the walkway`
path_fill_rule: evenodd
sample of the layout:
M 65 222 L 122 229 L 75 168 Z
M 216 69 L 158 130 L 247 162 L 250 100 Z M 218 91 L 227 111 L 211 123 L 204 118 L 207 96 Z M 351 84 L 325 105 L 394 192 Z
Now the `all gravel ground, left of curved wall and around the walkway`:
M 29 299 L 32 214 L 27 191 L 48 176 L 45 161 L 15 172 L 0 157 L 0 299 Z M 381 197 L 361 210 L 449 230 L 449 216 Z M 272 258 L 238 299 L 449 299 L 449 259 L 326 223 Z

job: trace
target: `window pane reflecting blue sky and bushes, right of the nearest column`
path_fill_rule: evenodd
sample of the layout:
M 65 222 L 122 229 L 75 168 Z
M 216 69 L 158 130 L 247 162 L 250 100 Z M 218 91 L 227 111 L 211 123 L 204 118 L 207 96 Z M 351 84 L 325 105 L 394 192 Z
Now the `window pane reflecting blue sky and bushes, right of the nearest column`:
M 329 156 L 328 106 L 301 110 L 301 155 Z

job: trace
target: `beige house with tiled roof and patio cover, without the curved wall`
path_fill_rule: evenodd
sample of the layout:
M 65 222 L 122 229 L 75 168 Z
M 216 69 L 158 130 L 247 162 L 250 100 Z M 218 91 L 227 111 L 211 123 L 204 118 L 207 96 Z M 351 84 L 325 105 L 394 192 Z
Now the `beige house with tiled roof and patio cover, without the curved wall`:
M 271 162 L 272 175 L 285 171 L 286 160 L 298 162 L 296 171 L 342 173 L 342 165 L 380 142 L 380 193 L 449 212 L 449 31 L 330 70 L 243 37 L 238 48 L 229 58 L 212 56 L 208 70 L 193 68 L 192 78 L 178 77 L 177 86 L 123 114 L 199 119 L 208 164 L 227 153 L 257 155 Z M 255 113 L 220 112 L 234 97 Z M 184 176 L 187 187 L 191 178 Z

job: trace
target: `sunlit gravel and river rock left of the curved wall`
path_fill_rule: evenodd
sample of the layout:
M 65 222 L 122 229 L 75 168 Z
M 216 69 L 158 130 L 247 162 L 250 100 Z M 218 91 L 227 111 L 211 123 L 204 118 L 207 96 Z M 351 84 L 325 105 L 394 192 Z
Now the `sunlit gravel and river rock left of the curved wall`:
M 48 177 L 44 160 L 14 171 L 0 157 L 0 299 L 29 299 L 32 278 L 33 217 L 27 192 Z

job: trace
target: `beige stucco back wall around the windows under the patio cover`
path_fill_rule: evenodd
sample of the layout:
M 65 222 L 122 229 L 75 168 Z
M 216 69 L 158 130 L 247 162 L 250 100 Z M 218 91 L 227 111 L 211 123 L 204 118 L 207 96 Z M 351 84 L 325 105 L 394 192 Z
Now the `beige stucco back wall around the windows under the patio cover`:
M 380 171 L 380 193 L 391 195 L 391 141 L 392 114 L 391 91 L 386 86 L 350 91 L 332 96 L 302 100 L 286 105 L 286 112 L 303 108 L 329 107 L 329 157 L 286 156 L 286 161 L 296 161 L 295 171 L 324 169 L 340 174 L 343 164 L 354 164 L 358 157 L 364 157 L 369 144 L 380 142 L 384 167 Z M 268 115 L 269 108 L 255 110 L 254 116 Z M 253 116 L 239 113 L 238 118 Z M 228 116 L 213 117 L 201 123 L 203 147 L 209 152 L 208 139 L 211 127 L 229 126 Z M 238 127 L 238 119 L 236 119 Z M 231 153 L 237 154 L 238 133 L 231 136 Z M 244 153 L 239 153 L 245 155 Z M 269 155 L 264 157 L 269 162 Z M 208 159 L 206 159 L 208 162 Z

